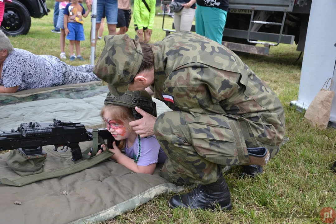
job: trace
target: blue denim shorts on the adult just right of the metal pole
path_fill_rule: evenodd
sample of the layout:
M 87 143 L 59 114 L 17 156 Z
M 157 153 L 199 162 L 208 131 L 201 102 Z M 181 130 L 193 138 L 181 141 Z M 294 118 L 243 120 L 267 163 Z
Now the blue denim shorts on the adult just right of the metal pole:
M 118 23 L 118 0 L 97 0 L 97 18 L 96 23 L 101 22 L 105 12 L 107 24 Z

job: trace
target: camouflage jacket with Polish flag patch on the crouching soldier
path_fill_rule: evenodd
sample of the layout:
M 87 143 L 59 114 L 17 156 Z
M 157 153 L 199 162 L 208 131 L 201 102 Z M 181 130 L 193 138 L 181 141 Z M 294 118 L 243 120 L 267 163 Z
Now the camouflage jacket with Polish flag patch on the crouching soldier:
M 281 144 L 285 116 L 280 100 L 234 52 L 184 31 L 169 35 L 152 49 L 154 97 L 172 110 L 243 117 L 258 141 Z

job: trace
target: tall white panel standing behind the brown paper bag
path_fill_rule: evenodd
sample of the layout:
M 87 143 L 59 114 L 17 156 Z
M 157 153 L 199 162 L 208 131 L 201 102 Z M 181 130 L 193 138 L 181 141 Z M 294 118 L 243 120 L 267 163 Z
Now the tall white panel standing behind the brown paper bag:
M 307 109 L 328 78 L 336 87 L 336 1 L 312 0 L 306 43 L 304 47 L 299 96 L 291 105 Z M 330 121 L 336 123 L 336 97 Z

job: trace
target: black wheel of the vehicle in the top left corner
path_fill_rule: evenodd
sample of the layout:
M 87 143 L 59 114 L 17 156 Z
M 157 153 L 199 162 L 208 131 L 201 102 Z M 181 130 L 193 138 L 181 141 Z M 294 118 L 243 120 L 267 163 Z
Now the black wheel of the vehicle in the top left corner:
M 27 34 L 31 19 L 26 6 L 17 0 L 5 4 L 1 29 L 7 36 Z

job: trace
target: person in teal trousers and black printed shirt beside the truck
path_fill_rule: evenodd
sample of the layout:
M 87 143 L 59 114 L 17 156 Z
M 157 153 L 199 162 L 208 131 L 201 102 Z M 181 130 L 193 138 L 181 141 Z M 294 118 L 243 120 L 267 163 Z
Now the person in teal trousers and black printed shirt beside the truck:
M 197 2 L 196 33 L 222 43 L 228 0 L 191 0 L 184 8 Z

